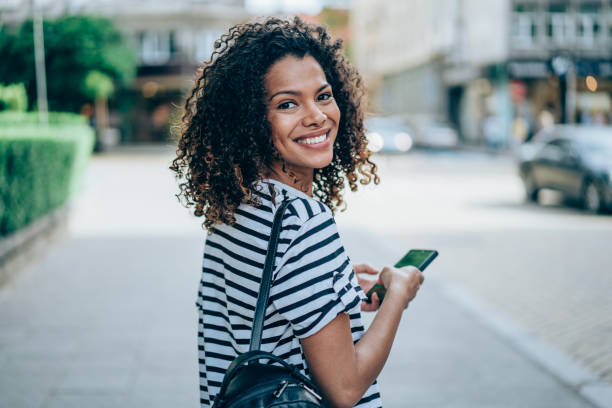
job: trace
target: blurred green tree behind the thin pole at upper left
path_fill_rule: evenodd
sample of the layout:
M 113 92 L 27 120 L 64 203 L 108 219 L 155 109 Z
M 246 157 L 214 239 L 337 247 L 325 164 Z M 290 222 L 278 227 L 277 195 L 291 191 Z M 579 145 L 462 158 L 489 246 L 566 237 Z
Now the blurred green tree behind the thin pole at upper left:
M 8 62 L 0 64 L 0 82 L 24 83 L 30 108 L 36 101 L 32 30 L 32 21 L 25 21 L 14 32 L 0 27 L 0 61 Z M 44 21 L 43 31 L 50 110 L 79 112 L 87 102 L 106 99 L 113 82 L 124 86 L 133 79 L 134 52 L 112 21 L 64 16 Z M 112 81 L 110 92 L 106 79 Z

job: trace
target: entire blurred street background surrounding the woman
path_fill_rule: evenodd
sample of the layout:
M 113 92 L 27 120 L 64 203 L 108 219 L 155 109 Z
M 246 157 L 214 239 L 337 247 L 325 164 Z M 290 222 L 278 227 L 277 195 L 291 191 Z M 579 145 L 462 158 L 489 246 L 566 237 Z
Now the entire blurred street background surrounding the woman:
M 168 166 L 196 70 L 264 15 L 364 79 L 353 261 L 440 252 L 384 405 L 612 407 L 610 0 L 0 0 L 0 407 L 197 406 L 206 234 Z

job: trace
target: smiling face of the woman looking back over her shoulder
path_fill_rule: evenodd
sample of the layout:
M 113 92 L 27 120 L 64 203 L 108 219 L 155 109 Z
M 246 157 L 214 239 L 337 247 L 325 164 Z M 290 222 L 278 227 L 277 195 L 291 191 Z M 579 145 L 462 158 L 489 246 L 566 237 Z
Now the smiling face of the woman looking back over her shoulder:
M 314 169 L 333 159 L 340 123 L 340 109 L 325 73 L 310 55 L 287 55 L 270 67 L 264 86 L 274 147 L 298 179 L 312 184 Z M 281 163 L 271 167 L 283 178 Z

